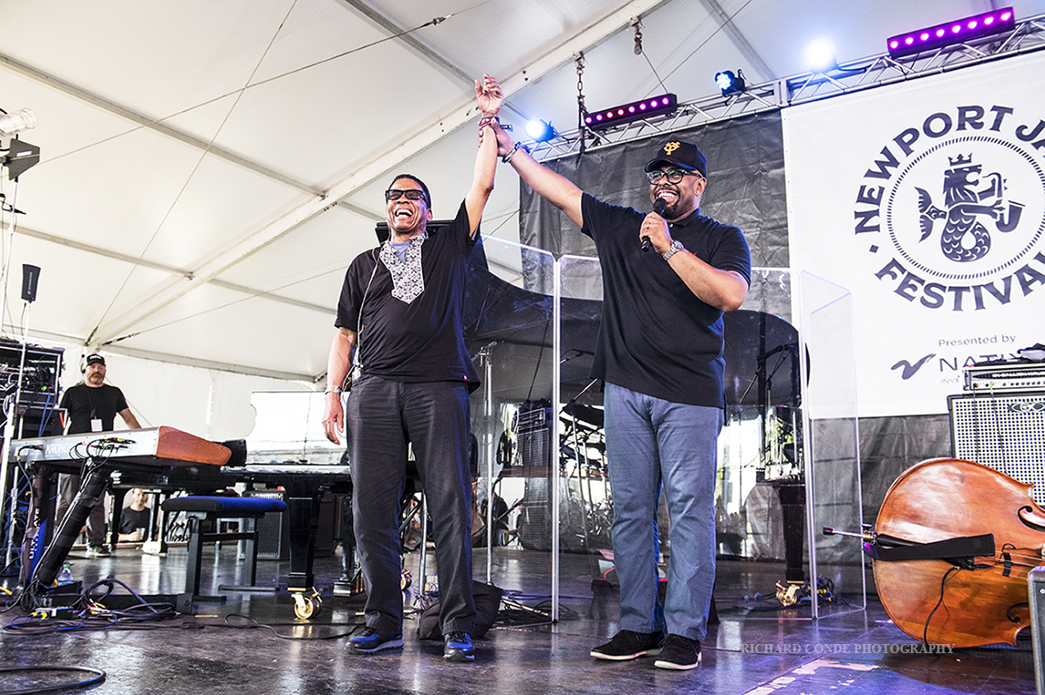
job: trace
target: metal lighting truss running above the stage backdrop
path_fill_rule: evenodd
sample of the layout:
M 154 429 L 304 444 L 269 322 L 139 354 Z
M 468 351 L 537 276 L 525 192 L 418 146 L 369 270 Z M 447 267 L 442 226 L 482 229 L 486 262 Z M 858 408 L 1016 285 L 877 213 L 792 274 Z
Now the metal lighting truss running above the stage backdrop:
M 927 77 L 1045 48 L 1045 15 L 1022 20 L 1007 33 L 944 46 L 932 51 L 889 57 L 887 53 L 853 61 L 826 72 L 753 85 L 743 92 L 703 97 L 678 104 L 672 114 L 632 121 L 598 133 L 556 133 L 548 142 L 525 141 L 537 160 L 649 138 L 694 125 L 724 121 L 861 90 Z M 1038 89 L 1028 85 L 1027 89 Z

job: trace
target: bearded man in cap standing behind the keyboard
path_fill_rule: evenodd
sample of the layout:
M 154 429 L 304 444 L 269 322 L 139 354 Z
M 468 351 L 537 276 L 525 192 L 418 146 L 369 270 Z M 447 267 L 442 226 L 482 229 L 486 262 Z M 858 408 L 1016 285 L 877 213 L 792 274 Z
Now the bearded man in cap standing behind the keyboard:
M 111 432 L 116 424 L 117 414 L 130 429 L 141 428 L 138 418 L 131 412 L 126 399 L 123 398 L 123 391 L 106 383 L 106 358 L 98 354 L 88 355 L 84 360 L 84 381 L 65 390 L 59 407 L 65 409 L 63 425 L 68 426 L 68 434 Z M 59 523 L 76 497 L 79 484 L 79 476 L 66 474 L 59 476 L 59 504 L 54 510 Z M 93 557 L 104 557 L 110 554 L 106 544 L 103 495 L 87 519 L 87 554 Z

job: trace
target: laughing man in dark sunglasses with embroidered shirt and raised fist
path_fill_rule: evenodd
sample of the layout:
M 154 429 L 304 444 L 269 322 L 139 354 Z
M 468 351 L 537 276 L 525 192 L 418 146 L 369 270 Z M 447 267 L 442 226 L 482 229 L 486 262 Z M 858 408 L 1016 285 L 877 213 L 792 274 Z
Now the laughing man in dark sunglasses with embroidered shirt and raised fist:
M 398 527 L 409 444 L 433 521 L 443 657 L 475 658 L 467 454 L 468 394 L 479 375 L 465 350 L 462 314 L 465 267 L 493 190 L 497 145 L 490 125 L 502 98 L 492 77 L 475 80 L 479 153 L 454 221 L 428 231 L 428 188 L 400 174 L 385 191 L 388 241 L 356 257 L 345 274 L 323 426 L 334 444 L 344 432 L 351 450 L 353 526 L 367 591 L 366 626 L 349 640 L 355 653 L 402 647 Z M 362 369 L 344 408 L 353 349 Z

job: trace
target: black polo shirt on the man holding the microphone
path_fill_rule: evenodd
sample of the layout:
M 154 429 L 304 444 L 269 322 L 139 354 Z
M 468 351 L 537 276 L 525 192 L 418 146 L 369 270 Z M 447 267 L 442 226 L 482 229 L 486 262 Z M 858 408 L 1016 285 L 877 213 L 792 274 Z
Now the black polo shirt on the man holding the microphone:
M 722 312 L 698 299 L 656 251 L 643 251 L 647 213 L 581 200 L 602 266 L 603 304 L 591 377 L 673 403 L 724 407 Z M 747 241 L 736 226 L 699 210 L 671 223 L 672 238 L 697 258 L 750 282 Z

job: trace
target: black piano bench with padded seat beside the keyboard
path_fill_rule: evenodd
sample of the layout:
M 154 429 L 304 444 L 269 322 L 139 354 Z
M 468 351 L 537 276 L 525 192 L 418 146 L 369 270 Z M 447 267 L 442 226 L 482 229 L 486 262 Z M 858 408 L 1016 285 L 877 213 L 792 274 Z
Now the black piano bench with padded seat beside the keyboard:
M 222 541 L 242 541 L 249 564 L 250 584 L 218 585 L 219 591 L 266 592 L 275 588 L 255 585 L 257 580 L 257 520 L 269 512 L 286 510 L 286 503 L 266 497 L 172 497 L 161 505 L 166 512 L 183 512 L 189 528 L 188 560 L 185 568 L 185 593 L 177 598 L 178 613 L 191 614 L 194 601 L 225 602 L 224 597 L 200 596 L 200 570 L 203 544 Z M 238 532 L 220 532 L 218 520 L 238 519 L 245 522 Z

